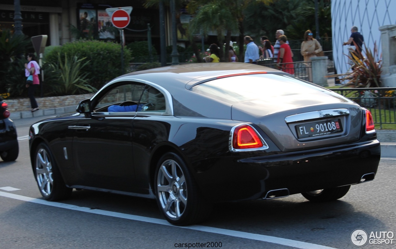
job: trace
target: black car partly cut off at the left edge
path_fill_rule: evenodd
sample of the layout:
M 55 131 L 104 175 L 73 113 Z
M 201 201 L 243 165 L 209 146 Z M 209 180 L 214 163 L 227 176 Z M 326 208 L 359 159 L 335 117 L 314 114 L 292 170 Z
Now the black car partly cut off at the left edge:
M 1 97 L 0 105 L 0 157 L 6 162 L 15 161 L 19 154 L 17 129 L 10 119 L 8 105 Z

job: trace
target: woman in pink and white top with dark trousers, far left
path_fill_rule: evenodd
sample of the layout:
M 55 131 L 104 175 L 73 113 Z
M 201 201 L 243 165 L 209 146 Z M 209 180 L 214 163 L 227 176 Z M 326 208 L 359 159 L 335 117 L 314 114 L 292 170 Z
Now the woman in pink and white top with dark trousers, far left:
M 34 112 L 39 109 L 36 98 L 34 98 L 34 90 L 36 90 L 36 87 L 40 85 L 40 80 L 38 79 L 38 74 L 40 74 L 40 66 L 36 62 L 34 53 L 29 53 L 27 55 L 27 60 L 28 63 L 25 63 L 25 76 L 28 77 L 26 81 L 26 87 L 28 87 L 28 96 L 30 99 L 30 105 L 32 107 L 30 112 Z M 31 81 L 29 77 L 32 78 Z

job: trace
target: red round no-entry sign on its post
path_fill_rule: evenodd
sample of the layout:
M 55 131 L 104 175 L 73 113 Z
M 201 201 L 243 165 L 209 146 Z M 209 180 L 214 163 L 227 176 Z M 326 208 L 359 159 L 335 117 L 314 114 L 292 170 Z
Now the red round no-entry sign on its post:
M 121 70 L 122 74 L 124 74 L 124 28 L 127 27 L 131 21 L 130 14 L 132 12 L 132 7 L 108 8 L 106 12 L 110 16 L 111 23 L 114 27 L 120 30 Z

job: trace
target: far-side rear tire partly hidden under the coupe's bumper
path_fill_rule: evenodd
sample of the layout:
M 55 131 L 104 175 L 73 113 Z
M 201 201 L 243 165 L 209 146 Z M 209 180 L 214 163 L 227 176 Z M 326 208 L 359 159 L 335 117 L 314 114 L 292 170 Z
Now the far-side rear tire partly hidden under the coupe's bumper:
M 334 201 L 339 198 L 345 196 L 348 193 L 350 185 L 341 186 L 336 188 L 327 188 L 323 190 L 316 190 L 301 193 L 307 200 L 312 202 L 325 202 L 325 201 Z

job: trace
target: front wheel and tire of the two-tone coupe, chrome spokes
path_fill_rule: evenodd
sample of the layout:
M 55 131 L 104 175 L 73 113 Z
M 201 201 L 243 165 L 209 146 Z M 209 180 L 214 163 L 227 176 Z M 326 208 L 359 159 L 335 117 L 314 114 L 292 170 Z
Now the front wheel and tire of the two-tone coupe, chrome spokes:
M 34 175 L 40 194 L 47 201 L 67 199 L 72 193 L 63 181 L 51 150 L 40 143 L 34 155 Z

